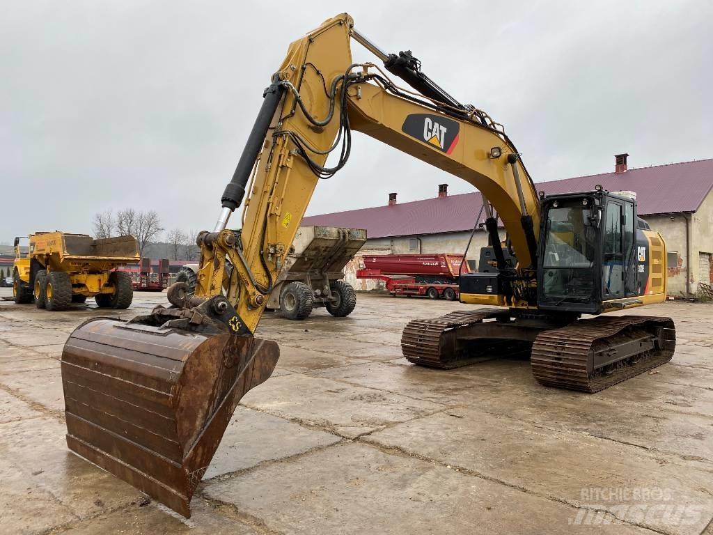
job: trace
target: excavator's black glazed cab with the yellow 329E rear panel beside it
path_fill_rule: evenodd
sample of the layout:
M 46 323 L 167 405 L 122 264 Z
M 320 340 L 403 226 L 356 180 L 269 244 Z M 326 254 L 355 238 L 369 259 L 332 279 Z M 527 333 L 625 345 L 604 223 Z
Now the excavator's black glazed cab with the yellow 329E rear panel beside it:
M 641 304 L 652 287 L 650 238 L 657 272 L 665 272 L 662 240 L 637 218 L 633 196 L 602 188 L 543 199 L 538 255 L 540 310 L 598 315 L 612 307 Z M 662 277 L 660 277 L 662 279 Z

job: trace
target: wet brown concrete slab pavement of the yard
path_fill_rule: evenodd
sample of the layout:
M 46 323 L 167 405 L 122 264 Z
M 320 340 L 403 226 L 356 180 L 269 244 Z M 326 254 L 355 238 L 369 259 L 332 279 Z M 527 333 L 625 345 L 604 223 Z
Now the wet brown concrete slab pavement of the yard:
M 468 305 L 359 294 L 347 318 L 267 312 L 277 370 L 242 399 L 183 519 L 64 442 L 69 333 L 158 303 L 0 301 L 0 533 L 713 535 L 713 305 L 627 312 L 672 317 L 676 354 L 593 395 L 541 387 L 527 360 L 401 357 L 406 322 Z

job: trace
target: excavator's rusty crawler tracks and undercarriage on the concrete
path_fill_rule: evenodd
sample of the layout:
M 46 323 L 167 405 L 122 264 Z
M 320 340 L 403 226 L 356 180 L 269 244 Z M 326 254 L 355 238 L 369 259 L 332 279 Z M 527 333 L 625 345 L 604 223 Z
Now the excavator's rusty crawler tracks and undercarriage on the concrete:
M 413 320 L 401 336 L 414 364 L 451 369 L 486 358 L 530 355 L 538 382 L 598 392 L 671 360 L 668 317 L 573 315 L 485 308 Z

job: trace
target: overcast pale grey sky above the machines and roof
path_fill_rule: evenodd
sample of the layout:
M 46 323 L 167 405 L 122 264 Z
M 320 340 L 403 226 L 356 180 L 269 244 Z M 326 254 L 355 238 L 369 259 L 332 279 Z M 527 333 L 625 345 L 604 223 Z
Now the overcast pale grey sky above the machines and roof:
M 352 4 L 352 5 L 350 5 Z M 212 229 L 262 89 L 334 14 L 506 126 L 535 182 L 713 157 L 713 2 L 14 1 L 0 16 L 0 242 L 158 210 Z M 356 59 L 371 59 L 357 44 Z M 472 186 L 355 133 L 308 214 Z

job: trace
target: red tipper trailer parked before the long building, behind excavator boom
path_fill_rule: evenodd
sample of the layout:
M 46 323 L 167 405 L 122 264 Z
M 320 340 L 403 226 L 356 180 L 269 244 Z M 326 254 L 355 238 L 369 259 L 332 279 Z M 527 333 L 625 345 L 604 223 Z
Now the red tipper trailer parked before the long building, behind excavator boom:
M 427 295 L 431 299 L 453 301 L 458 298 L 458 272 L 470 272 L 463 255 L 365 255 L 364 267 L 356 278 L 379 279 L 391 295 Z

